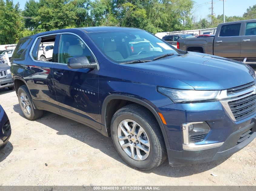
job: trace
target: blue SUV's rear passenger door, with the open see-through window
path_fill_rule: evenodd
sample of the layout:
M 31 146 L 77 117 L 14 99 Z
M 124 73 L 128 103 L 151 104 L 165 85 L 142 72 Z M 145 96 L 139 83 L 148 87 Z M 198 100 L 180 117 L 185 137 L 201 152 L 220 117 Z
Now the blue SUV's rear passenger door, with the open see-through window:
M 35 39 L 25 63 L 23 78 L 27 82 L 33 103 L 37 107 L 60 113 L 53 86 L 52 65 L 55 56 L 52 54 L 49 60 L 38 60 L 40 44 L 45 42 L 57 43 L 57 41 L 56 35 L 47 35 Z

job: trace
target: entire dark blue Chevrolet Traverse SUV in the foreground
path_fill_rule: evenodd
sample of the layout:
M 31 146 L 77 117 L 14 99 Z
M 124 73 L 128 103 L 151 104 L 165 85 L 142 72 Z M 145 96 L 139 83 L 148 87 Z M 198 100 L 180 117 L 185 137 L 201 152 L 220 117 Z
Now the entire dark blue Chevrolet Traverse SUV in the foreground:
M 52 59 L 40 61 L 40 44 L 48 42 Z M 145 30 L 35 34 L 19 41 L 11 64 L 27 119 L 47 110 L 85 124 L 111 136 L 121 157 L 141 170 L 167 156 L 171 166 L 217 160 L 256 136 L 250 66 L 174 49 Z

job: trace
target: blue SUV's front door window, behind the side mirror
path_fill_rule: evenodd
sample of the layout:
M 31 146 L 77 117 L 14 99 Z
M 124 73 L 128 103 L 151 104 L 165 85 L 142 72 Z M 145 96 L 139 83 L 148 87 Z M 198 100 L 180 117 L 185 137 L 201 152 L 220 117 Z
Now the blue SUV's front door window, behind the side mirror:
M 86 56 L 89 62 L 95 62 L 91 51 L 81 41 L 81 39 L 73 34 L 62 34 L 58 52 L 58 62 L 67 64 L 68 59 Z

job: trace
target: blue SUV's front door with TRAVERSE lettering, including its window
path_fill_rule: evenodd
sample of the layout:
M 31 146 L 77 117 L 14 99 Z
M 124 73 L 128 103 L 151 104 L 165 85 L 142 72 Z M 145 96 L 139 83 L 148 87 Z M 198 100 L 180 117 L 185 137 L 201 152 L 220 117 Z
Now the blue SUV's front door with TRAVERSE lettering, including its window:
M 98 70 L 70 69 L 67 66 L 70 58 L 84 56 L 90 62 L 95 62 L 90 49 L 80 37 L 75 34 L 60 34 L 58 56 L 53 64 L 56 98 L 63 115 L 101 129 Z

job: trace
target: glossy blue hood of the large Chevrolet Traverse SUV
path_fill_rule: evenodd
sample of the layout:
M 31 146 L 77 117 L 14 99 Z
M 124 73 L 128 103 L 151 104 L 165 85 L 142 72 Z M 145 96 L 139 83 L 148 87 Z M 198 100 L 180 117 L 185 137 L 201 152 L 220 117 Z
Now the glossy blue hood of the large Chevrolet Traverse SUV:
M 175 78 L 196 90 L 224 90 L 255 80 L 254 70 L 246 64 L 192 52 L 152 62 L 120 64 L 120 67 Z

